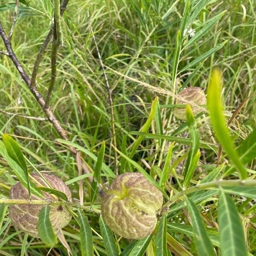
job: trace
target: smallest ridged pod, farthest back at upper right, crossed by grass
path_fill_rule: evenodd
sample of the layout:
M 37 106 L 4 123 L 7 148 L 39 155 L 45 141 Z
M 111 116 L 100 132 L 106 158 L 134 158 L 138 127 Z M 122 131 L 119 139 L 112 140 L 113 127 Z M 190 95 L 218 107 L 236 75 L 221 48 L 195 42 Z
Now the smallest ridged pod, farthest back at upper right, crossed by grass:
M 185 100 L 191 100 L 197 105 L 205 105 L 207 100 L 206 96 L 204 94 L 204 90 L 199 88 L 199 87 L 189 87 L 186 88 L 185 90 L 182 90 L 179 94 L 180 97 L 182 97 Z M 186 104 L 180 99 L 177 99 L 177 105 L 180 104 Z M 192 108 L 194 116 L 197 115 L 198 113 L 201 112 L 200 109 Z M 178 119 L 183 119 L 186 120 L 186 115 L 185 115 L 185 107 L 177 107 L 173 110 L 174 116 L 176 116 Z

